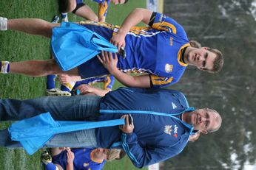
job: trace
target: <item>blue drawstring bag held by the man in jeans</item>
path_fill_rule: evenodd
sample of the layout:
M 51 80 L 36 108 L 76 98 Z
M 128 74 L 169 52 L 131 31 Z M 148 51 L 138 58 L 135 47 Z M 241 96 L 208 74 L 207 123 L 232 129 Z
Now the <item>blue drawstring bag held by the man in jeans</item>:
M 55 121 L 48 112 L 33 118 L 17 121 L 8 128 L 8 131 L 12 141 L 19 141 L 26 152 L 29 155 L 33 155 L 55 134 L 121 124 L 124 124 L 124 119 L 109 121 Z

